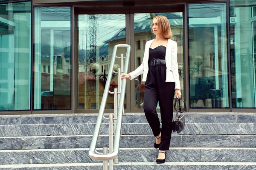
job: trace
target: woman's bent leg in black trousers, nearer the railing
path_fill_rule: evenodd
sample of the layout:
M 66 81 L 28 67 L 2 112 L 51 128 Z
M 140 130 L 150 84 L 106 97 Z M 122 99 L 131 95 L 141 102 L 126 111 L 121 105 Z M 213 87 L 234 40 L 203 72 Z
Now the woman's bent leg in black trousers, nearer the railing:
M 158 119 L 156 110 L 157 102 L 157 90 L 155 88 L 148 87 L 147 85 L 145 85 L 143 109 L 148 124 L 151 127 L 154 136 L 159 136 L 161 132 L 160 121 Z

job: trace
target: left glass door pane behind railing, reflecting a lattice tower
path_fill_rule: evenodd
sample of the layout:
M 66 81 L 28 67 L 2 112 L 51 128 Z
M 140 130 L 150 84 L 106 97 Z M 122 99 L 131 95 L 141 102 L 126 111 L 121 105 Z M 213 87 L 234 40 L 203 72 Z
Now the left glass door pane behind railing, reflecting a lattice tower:
M 99 109 L 113 47 L 125 44 L 125 14 L 79 15 L 79 105 L 78 109 Z M 125 48 L 118 48 L 116 55 L 126 54 Z M 120 68 L 116 59 L 114 70 Z M 110 91 L 117 88 L 117 74 L 112 74 Z M 106 109 L 113 109 L 114 96 L 108 94 Z M 126 108 L 126 96 L 125 96 Z

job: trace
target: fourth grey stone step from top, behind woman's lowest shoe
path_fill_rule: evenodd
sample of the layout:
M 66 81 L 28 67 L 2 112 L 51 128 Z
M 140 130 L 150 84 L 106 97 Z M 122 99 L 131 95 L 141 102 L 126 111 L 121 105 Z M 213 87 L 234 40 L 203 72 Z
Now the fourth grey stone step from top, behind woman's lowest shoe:
M 89 149 L 2 150 L 0 164 L 65 164 L 99 162 Z M 100 150 L 99 150 L 100 151 Z M 119 162 L 155 162 L 158 149 L 120 148 Z M 256 162 L 256 148 L 170 148 L 166 162 Z

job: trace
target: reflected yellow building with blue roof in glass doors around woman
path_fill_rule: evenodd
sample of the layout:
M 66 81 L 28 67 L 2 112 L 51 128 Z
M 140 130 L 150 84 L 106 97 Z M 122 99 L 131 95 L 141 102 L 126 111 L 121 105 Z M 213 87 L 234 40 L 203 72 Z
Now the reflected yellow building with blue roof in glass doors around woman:
M 157 13 L 160 15 L 161 13 Z M 181 45 L 181 37 L 182 37 L 182 15 L 179 13 L 163 13 L 168 19 L 169 23 L 172 26 L 172 32 L 174 34 L 173 40 L 175 40 L 178 44 L 178 63 L 179 68 L 183 67 L 183 47 Z M 134 23 L 134 49 L 135 49 L 135 68 L 139 67 L 141 62 L 143 61 L 143 55 L 145 51 L 145 43 L 148 40 L 151 40 L 151 18 L 141 20 L 139 22 Z M 124 44 L 125 43 L 125 30 L 126 28 L 121 28 L 116 34 L 111 37 L 109 40 L 106 40 L 106 43 L 109 43 L 110 46 L 114 46 L 116 44 Z M 109 53 L 111 53 L 111 48 L 109 48 Z M 125 54 L 125 51 L 119 51 L 119 54 Z M 141 77 L 143 75 L 137 77 L 135 82 L 135 103 L 139 107 L 141 103 L 143 103 L 143 96 L 144 96 L 144 82 L 141 82 Z M 138 84 L 137 84 L 138 83 Z M 183 79 L 181 79 L 181 85 L 183 86 Z M 139 93 L 139 94 L 138 94 Z M 141 97 L 140 97 L 141 96 Z M 138 98 L 138 99 L 137 99 Z

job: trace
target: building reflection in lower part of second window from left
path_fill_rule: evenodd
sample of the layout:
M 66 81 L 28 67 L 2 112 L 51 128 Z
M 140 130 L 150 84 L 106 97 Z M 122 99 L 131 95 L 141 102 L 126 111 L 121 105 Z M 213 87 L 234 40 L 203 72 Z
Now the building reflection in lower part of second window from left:
M 66 108 L 62 103 L 71 103 L 71 59 L 66 59 L 64 54 L 53 56 L 52 68 L 50 59 L 41 57 L 41 109 Z

